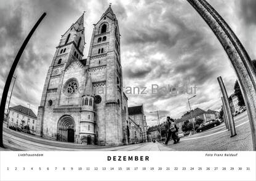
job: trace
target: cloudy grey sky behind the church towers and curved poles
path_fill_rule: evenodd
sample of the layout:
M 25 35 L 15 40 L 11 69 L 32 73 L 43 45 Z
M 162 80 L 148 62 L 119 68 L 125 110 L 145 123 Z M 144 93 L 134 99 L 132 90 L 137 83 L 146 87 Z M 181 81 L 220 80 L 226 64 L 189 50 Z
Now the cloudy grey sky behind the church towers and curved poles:
M 189 109 L 187 98 L 193 94 L 152 93 L 159 88 L 196 85 L 192 109 L 219 110 L 222 76 L 228 94 L 233 93 L 237 79 L 233 68 L 206 23 L 185 0 L 158 1 L 4 1 L 0 0 L 0 94 L 10 66 L 31 27 L 43 12 L 46 18 L 34 33 L 18 64 L 17 81 L 10 106 L 22 104 L 37 114 L 42 88 L 55 47 L 60 37 L 85 10 L 86 58 L 93 24 L 112 3 L 121 33 L 121 62 L 124 91 L 128 87 L 146 87 L 146 94 L 127 94 L 129 106 L 143 104 L 148 125 L 155 125 L 159 110 L 161 121 L 166 115 L 179 118 Z M 238 35 L 250 57 L 254 59 L 256 42 L 255 0 L 209 0 Z M 190 93 L 190 91 L 189 91 Z

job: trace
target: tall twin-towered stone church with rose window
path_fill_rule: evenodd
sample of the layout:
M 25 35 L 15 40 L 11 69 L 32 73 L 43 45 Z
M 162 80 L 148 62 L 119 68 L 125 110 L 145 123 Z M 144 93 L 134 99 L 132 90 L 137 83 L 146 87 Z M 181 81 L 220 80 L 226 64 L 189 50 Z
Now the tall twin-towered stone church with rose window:
M 38 108 L 38 135 L 78 144 L 127 144 L 120 34 L 111 6 L 94 24 L 86 59 L 84 14 L 62 35 Z

